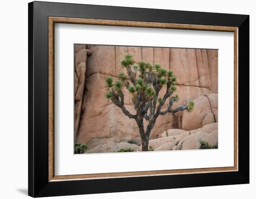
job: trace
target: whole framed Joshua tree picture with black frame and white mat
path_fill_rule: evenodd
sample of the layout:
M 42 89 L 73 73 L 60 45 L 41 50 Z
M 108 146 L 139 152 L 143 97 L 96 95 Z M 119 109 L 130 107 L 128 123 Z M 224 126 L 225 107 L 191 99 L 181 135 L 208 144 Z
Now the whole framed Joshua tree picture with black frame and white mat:
M 28 194 L 249 183 L 249 16 L 28 4 Z

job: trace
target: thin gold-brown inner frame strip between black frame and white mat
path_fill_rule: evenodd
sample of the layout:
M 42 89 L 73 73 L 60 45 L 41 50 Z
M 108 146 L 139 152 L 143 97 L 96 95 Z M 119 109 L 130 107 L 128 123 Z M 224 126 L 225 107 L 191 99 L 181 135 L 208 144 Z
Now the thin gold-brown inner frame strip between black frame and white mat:
M 204 30 L 222 31 L 234 33 L 234 166 L 197 168 L 197 169 L 177 169 L 161 171 L 142 171 L 142 172 L 115 172 L 115 173 L 95 173 L 79 175 L 54 175 L 54 23 L 84 24 L 98 26 L 122 26 L 122 27 L 149 27 L 167 28 L 183 30 Z M 49 121 L 48 121 L 48 150 L 49 150 L 49 176 L 50 181 L 74 180 L 74 179 L 102 179 L 138 176 L 157 176 L 173 174 L 190 174 L 205 172 L 232 172 L 238 171 L 238 27 L 225 26 L 205 26 L 189 24 L 138 22 L 125 20 L 99 20 L 99 19 L 79 19 L 67 17 L 48 17 L 48 85 L 49 85 Z

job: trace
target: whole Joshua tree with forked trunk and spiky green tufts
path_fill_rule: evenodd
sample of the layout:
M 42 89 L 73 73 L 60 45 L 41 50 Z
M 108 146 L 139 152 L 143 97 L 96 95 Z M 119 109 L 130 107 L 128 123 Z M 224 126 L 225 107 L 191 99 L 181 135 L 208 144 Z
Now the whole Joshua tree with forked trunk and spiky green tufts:
M 121 61 L 121 67 L 126 68 L 128 77 L 123 72 L 119 73 L 119 79 L 115 82 L 113 82 L 112 77 L 107 77 L 106 98 L 111 99 L 129 118 L 135 119 L 141 136 L 142 151 L 148 151 L 149 135 L 155 126 L 157 117 L 183 110 L 190 112 L 193 110 L 194 102 L 191 101 L 187 105 L 172 109 L 173 103 L 179 100 L 177 94 L 172 96 L 176 91 L 176 77 L 171 70 L 167 71 L 160 64 L 152 66 L 144 61 L 135 64 L 132 56 L 127 54 Z M 122 92 L 124 86 L 132 94 L 136 114 L 130 113 L 124 106 L 124 94 Z M 159 92 L 164 86 L 166 92 L 163 97 L 159 97 Z M 167 99 L 169 99 L 168 108 L 162 111 L 161 108 Z M 146 128 L 144 128 L 144 119 L 148 121 Z

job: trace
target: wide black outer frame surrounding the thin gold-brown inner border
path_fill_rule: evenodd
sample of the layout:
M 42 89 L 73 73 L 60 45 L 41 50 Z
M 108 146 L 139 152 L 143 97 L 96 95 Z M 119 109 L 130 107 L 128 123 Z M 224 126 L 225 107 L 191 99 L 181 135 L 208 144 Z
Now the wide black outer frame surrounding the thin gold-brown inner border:
M 238 171 L 48 180 L 48 17 L 238 27 Z M 147 183 L 145 183 L 147 182 Z M 249 183 L 249 15 L 31 2 L 28 4 L 28 195 L 125 192 Z M 125 185 L 125 186 L 123 186 Z

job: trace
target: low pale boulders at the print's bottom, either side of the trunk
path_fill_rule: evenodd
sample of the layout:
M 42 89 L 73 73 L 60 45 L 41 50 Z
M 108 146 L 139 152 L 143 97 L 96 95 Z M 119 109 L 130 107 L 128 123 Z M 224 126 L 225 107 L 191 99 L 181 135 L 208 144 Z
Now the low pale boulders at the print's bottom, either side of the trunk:
M 171 129 L 175 130 L 173 132 L 181 133 L 177 131 L 179 129 Z M 167 135 L 157 139 L 150 139 L 149 146 L 152 146 L 155 151 L 170 151 L 170 150 L 191 150 L 191 149 L 199 149 L 201 144 L 200 141 L 208 142 L 212 147 L 218 146 L 218 123 L 210 123 L 201 128 L 192 130 L 192 131 L 184 131 L 181 134 L 177 135 Z M 102 142 L 102 144 L 91 147 L 91 149 L 87 150 L 85 153 L 113 153 L 118 152 L 120 149 L 132 149 L 134 151 L 141 151 L 141 145 L 137 145 L 135 143 L 131 144 L 128 142 L 114 142 L 107 141 Z

